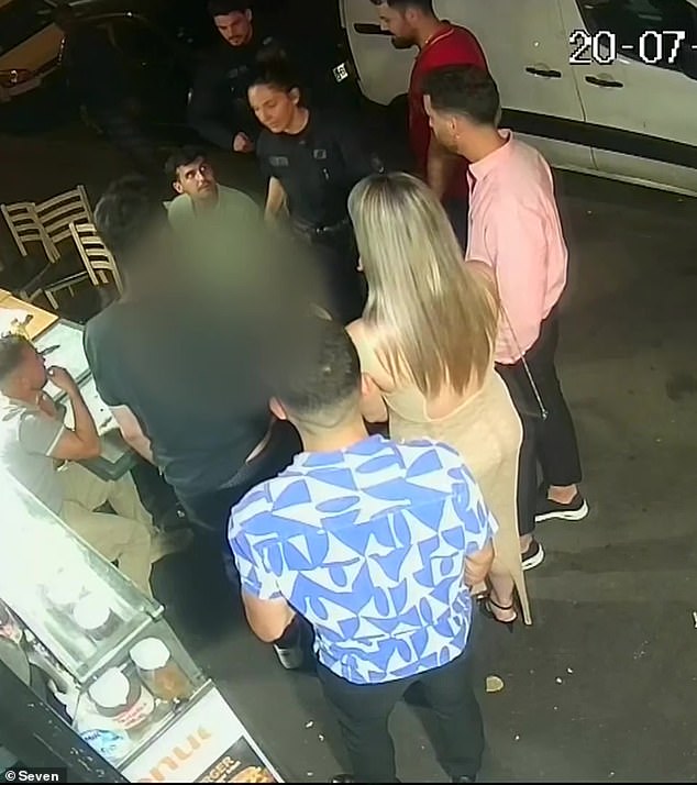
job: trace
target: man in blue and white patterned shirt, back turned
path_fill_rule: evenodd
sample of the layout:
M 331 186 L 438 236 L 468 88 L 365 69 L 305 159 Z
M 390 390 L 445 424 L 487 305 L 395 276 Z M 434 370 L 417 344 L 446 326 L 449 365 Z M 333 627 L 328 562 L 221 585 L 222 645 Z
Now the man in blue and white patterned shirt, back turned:
M 397 782 L 388 719 L 416 682 L 440 721 L 443 769 L 474 782 L 484 732 L 468 587 L 486 577 L 497 524 L 455 450 L 368 436 L 355 349 L 320 321 L 272 401 L 306 452 L 232 510 L 250 626 L 273 642 L 296 613 L 312 623 L 356 782 Z

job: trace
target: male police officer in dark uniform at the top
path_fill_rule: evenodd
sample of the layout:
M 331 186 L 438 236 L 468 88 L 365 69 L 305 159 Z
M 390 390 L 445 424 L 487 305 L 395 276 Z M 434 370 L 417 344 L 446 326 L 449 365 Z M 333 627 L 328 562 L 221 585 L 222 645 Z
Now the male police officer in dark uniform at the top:
M 252 0 L 210 0 L 209 14 L 220 32 L 218 46 L 201 63 L 189 98 L 189 125 L 211 144 L 236 153 L 254 151 L 261 128 L 250 110 L 252 75 L 286 45 L 264 30 Z

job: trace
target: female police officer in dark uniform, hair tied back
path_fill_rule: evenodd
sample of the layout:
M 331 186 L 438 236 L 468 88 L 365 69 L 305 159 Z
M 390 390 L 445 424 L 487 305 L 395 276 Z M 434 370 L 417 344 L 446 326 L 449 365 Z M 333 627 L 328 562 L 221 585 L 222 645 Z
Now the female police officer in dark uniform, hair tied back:
M 264 125 L 257 156 L 268 177 L 266 215 L 287 208 L 294 230 L 314 248 L 331 314 L 357 319 L 365 284 L 348 219 L 353 186 L 380 170 L 355 123 L 335 111 L 310 109 L 285 63 L 269 64 L 250 87 L 250 103 Z

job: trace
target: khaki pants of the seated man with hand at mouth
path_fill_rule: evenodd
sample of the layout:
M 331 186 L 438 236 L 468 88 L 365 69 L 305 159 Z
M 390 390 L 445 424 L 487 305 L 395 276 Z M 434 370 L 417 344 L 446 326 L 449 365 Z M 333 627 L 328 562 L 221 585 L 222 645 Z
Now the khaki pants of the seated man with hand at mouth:
M 139 498 L 130 474 L 112 483 L 97 477 L 76 463 L 58 469 L 64 502 L 60 517 L 142 591 L 152 597 L 151 538 L 153 520 Z M 115 515 L 95 512 L 109 502 Z

